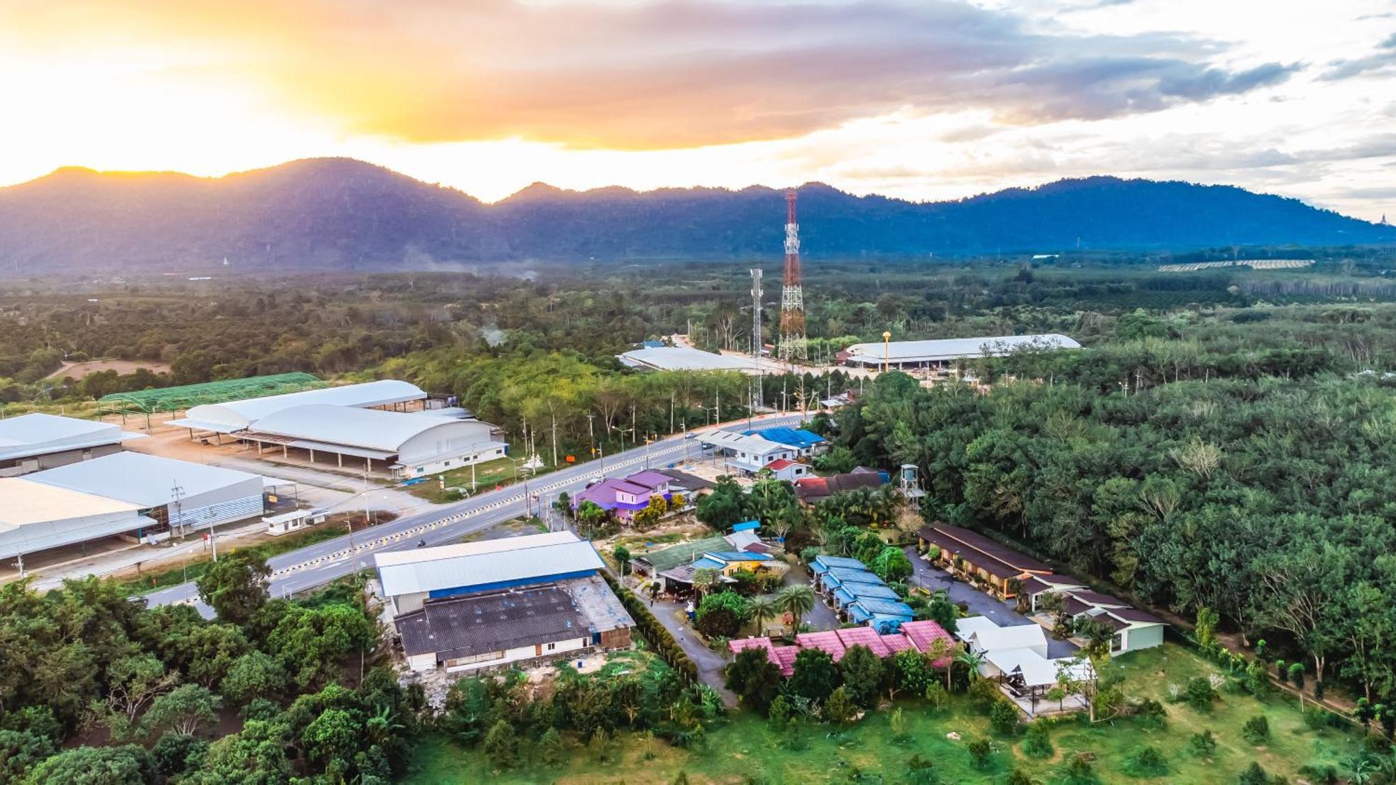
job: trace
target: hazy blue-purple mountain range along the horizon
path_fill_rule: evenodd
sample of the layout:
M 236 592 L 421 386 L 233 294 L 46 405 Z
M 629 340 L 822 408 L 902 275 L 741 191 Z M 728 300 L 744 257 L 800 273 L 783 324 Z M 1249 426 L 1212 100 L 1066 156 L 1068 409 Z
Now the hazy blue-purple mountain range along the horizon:
M 59 169 L 0 189 L 0 271 L 429 267 L 529 258 L 778 257 L 782 191 L 564 191 L 493 205 L 352 159 L 226 177 Z M 810 258 L 1396 243 L 1396 228 L 1230 186 L 1086 177 L 958 201 L 800 189 Z

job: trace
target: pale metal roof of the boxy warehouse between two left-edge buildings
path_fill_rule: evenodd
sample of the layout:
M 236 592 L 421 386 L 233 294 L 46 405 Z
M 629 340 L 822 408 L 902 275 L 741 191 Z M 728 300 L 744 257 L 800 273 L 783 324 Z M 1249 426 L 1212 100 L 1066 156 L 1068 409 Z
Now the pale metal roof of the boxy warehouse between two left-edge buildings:
M 144 453 L 113 453 L 91 461 L 35 472 L 27 479 L 120 499 L 142 507 L 168 504 L 176 485 L 180 486 L 184 497 L 240 483 L 255 483 L 254 493 L 261 493 L 262 487 L 261 475 L 145 455 Z

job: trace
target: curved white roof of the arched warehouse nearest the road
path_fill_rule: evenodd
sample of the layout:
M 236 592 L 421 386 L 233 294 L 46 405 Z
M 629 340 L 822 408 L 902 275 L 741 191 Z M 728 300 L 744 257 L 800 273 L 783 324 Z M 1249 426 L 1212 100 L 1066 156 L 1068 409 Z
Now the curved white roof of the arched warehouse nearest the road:
M 408 441 L 427 432 L 473 433 L 479 436 L 475 441 L 487 441 L 490 437 L 490 425 L 480 420 L 455 420 L 431 415 L 322 404 L 292 406 L 274 412 L 258 419 L 253 430 L 288 439 L 320 441 L 327 446 L 343 444 L 383 453 L 399 453 Z

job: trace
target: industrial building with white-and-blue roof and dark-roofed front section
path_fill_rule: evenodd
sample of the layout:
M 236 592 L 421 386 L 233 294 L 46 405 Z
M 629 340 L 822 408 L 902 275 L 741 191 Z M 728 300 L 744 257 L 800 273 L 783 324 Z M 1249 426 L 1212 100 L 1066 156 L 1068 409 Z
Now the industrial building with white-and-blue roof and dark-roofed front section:
M 395 550 L 374 562 L 412 670 L 631 645 L 634 620 L 600 578 L 600 556 L 571 532 Z

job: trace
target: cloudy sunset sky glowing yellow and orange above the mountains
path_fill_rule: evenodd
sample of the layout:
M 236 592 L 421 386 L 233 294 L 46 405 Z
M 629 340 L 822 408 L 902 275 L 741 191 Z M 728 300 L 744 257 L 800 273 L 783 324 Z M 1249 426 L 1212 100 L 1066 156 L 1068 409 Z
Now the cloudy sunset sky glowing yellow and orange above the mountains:
M 1230 183 L 1396 221 L 1390 0 L 0 0 L 0 184 L 353 156 L 486 201 Z

